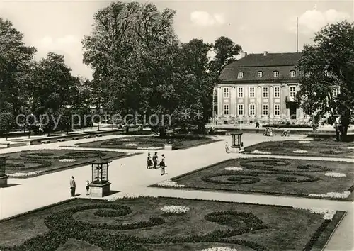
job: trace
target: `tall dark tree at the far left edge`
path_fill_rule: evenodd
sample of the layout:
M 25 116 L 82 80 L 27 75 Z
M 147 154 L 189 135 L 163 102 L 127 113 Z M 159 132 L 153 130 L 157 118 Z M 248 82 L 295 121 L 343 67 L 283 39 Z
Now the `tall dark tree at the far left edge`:
M 25 106 L 35 52 L 23 43 L 23 33 L 0 18 L 0 111 L 11 107 L 11 112 L 18 113 Z

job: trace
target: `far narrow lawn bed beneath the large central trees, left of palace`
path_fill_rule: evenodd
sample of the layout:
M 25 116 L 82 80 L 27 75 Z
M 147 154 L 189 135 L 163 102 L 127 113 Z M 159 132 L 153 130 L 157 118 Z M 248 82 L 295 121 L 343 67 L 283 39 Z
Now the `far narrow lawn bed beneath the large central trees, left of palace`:
M 185 149 L 213 143 L 217 140 L 200 135 L 174 135 L 174 144 L 176 149 Z M 76 144 L 78 147 L 102 147 L 102 148 L 120 148 L 137 150 L 161 150 L 169 142 L 169 137 L 160 138 L 158 136 L 133 136 L 125 138 L 114 138 L 110 140 L 99 140 L 89 143 Z

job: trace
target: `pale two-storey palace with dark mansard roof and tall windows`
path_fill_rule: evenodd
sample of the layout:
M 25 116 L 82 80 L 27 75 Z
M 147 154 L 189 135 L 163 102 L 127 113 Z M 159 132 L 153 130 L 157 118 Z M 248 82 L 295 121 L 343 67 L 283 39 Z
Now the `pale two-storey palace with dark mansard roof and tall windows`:
M 246 54 L 246 53 L 245 53 Z M 245 55 L 227 65 L 217 85 L 217 124 L 303 120 L 296 99 L 301 53 Z

